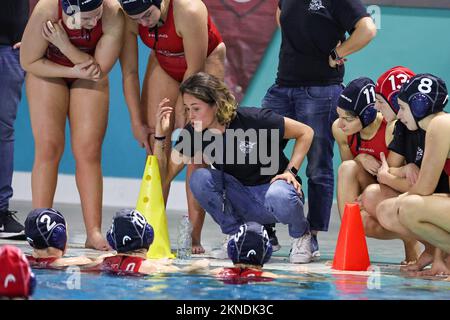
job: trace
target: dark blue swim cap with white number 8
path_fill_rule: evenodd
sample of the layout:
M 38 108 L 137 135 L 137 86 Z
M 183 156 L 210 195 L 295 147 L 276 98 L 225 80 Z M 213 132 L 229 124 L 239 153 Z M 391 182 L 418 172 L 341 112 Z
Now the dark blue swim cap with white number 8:
M 418 122 L 430 114 L 444 110 L 448 91 L 444 80 L 429 73 L 417 74 L 400 89 L 398 98 L 406 102 Z

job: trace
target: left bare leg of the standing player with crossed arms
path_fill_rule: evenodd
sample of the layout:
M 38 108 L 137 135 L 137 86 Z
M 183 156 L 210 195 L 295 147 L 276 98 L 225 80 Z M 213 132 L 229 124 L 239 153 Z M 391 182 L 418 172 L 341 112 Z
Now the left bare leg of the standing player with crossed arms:
M 64 152 L 69 89 L 62 79 L 44 79 L 29 73 L 26 92 L 35 144 L 33 208 L 51 208 Z

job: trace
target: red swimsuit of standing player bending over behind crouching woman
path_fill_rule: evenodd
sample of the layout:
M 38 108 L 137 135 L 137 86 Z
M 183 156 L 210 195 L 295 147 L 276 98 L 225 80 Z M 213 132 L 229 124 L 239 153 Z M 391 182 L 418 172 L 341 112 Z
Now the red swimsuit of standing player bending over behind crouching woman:
M 139 25 L 139 35 L 145 45 L 155 50 L 156 58 L 161 68 L 173 79 L 181 82 L 187 70 L 187 62 L 184 54 L 183 38 L 177 35 L 175 28 L 172 2 L 170 1 L 164 25 L 151 31 L 148 27 Z M 155 37 L 157 38 L 156 41 Z M 222 42 L 219 31 L 208 15 L 208 56 Z

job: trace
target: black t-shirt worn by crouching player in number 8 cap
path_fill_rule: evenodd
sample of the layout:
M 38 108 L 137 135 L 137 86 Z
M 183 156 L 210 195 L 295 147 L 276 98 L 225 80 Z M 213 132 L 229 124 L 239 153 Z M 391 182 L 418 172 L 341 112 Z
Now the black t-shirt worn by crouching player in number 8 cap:
M 420 168 L 425 153 L 425 135 L 425 130 L 419 128 L 416 131 L 410 131 L 402 122 L 397 121 L 394 128 L 394 138 L 388 148 L 405 157 L 406 163 L 414 163 Z M 448 176 L 445 172 L 442 172 L 435 192 L 450 192 Z

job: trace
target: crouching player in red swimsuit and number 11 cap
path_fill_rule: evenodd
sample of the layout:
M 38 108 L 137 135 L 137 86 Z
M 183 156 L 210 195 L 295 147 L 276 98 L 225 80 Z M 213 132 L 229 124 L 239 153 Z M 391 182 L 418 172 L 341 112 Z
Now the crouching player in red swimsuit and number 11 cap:
M 374 89 L 372 80 L 358 78 L 339 98 L 339 119 L 332 130 L 342 160 L 337 182 L 341 217 L 345 204 L 356 201 L 369 184 L 376 182 L 382 154 L 388 154 L 387 145 L 392 139 L 392 128 L 374 108 Z

